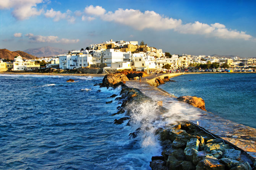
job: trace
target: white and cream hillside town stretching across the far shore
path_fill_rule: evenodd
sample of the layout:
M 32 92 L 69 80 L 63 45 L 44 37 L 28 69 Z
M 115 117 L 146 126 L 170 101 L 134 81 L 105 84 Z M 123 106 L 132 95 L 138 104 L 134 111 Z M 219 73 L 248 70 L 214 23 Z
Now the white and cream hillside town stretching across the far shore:
M 43 66 L 42 63 L 45 63 Z M 31 60 L 16 56 L 11 61 L 0 60 L 0 71 L 24 71 L 40 68 L 56 68 L 63 70 L 81 67 L 98 67 L 106 73 L 117 70 L 134 70 L 155 73 L 160 71 L 255 71 L 256 58 L 222 58 L 206 55 L 177 55 L 163 52 L 162 49 L 150 47 L 143 41 L 118 40 L 91 44 L 81 50 L 71 50 L 68 53 L 54 57 L 36 58 Z M 230 68 L 227 70 L 227 68 Z M 224 70 L 226 69 L 226 70 Z

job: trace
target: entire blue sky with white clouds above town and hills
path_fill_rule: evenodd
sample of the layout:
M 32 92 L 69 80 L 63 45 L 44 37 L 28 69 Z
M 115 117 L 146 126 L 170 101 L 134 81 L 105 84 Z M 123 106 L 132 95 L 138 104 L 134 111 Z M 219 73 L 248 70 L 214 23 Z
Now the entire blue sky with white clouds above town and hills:
M 254 0 L 0 0 L 0 49 L 143 40 L 171 54 L 256 57 Z

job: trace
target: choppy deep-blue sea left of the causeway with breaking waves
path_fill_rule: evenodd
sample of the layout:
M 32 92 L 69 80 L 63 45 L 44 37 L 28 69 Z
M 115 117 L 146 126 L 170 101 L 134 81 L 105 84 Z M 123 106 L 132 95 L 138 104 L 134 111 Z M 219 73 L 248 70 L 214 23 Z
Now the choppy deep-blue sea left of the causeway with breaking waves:
M 136 107 L 131 126 L 116 125 L 125 113 L 111 116 L 121 104 L 109 97 L 121 89 L 94 86 L 102 79 L 0 74 L 0 169 L 151 169 L 161 154 L 154 105 Z

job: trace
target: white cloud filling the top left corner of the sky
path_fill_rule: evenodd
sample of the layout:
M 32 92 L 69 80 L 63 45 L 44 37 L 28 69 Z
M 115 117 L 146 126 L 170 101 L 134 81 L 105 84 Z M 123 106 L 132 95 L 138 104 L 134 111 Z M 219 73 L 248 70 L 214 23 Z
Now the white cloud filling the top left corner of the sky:
M 18 20 L 28 19 L 31 16 L 41 15 L 43 9 L 36 8 L 44 0 L 2 0 L 0 9 L 13 8 L 12 15 Z

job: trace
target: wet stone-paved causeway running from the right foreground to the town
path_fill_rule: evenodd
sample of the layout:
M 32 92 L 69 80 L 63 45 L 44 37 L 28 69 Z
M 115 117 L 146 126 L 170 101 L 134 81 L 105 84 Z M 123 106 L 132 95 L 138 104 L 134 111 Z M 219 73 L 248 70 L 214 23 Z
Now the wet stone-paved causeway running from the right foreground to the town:
M 178 76 L 181 74 L 183 73 L 157 75 L 158 77 L 163 78 L 164 76 Z M 176 97 L 172 94 L 169 94 L 160 88 L 149 85 L 150 82 L 154 82 L 155 78 L 156 75 L 151 74 L 148 77 L 142 78 L 141 83 L 139 83 L 139 80 L 132 80 L 127 81 L 126 84 L 129 87 L 138 88 L 141 92 L 143 92 L 149 97 L 152 97 L 152 99 L 154 100 L 162 101 L 163 106 L 166 108 L 168 108 L 169 105 L 177 103 L 178 101 L 176 100 Z M 184 103 L 184 105 L 185 104 L 186 103 Z M 186 107 L 193 107 L 189 104 L 186 105 Z M 197 117 L 193 117 L 193 119 L 191 118 L 187 121 L 191 121 L 194 124 L 197 124 L 198 121 L 199 126 L 204 128 L 205 130 L 219 136 L 220 138 L 224 139 L 227 142 L 234 144 L 238 148 L 242 149 L 243 151 L 251 155 L 251 157 L 256 159 L 256 129 L 235 123 L 230 120 L 225 120 L 224 118 L 221 118 L 210 112 L 205 112 L 199 108 L 196 109 L 198 110 L 199 113 Z

